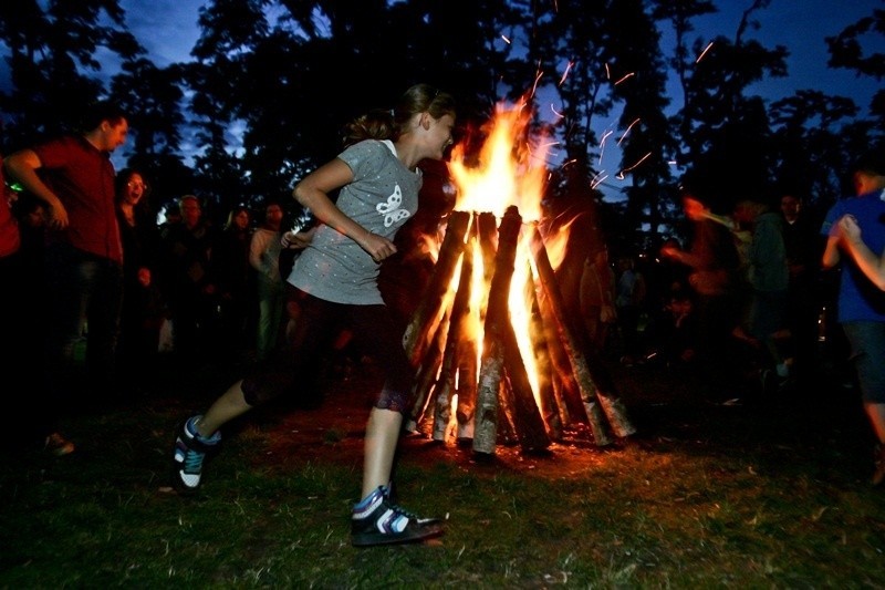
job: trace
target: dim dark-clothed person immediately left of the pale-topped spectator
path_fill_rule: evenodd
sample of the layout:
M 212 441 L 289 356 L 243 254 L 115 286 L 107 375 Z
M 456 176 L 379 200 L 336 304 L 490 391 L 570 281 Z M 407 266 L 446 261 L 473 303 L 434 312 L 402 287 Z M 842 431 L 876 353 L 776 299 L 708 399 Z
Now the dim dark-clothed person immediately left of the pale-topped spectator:
M 251 342 L 244 334 L 254 332 L 256 281 L 249 263 L 252 241 L 252 216 L 244 205 L 228 214 L 225 227 L 212 252 L 212 267 L 218 279 L 221 303 L 221 354 L 231 361 L 244 361 Z

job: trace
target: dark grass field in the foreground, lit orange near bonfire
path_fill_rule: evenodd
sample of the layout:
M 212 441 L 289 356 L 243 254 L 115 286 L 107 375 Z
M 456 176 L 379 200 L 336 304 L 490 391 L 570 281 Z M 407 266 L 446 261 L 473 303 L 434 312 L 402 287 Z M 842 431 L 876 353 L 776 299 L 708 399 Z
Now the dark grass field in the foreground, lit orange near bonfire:
M 67 417 L 69 457 L 2 454 L 0 587 L 885 588 L 885 489 L 856 393 L 833 384 L 726 405 L 637 366 L 617 383 L 639 432 L 612 447 L 575 431 L 546 455 L 479 457 L 409 437 L 399 499 L 446 532 L 355 549 L 371 375 L 317 411 L 231 424 L 204 489 L 179 496 L 175 425 L 222 383 L 158 379 Z

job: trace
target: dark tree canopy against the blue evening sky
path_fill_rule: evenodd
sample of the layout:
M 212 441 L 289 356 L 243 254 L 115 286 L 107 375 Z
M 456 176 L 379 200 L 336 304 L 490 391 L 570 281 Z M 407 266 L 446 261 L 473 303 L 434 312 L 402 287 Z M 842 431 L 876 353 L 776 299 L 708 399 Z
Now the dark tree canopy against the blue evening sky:
M 559 142 L 548 198 L 600 209 L 618 248 L 639 249 L 675 227 L 686 184 L 723 210 L 779 192 L 825 207 L 847 190 L 846 162 L 882 143 L 885 91 L 870 105 L 819 89 L 773 103 L 750 93 L 789 73 L 787 48 L 748 34 L 769 4 L 747 0 L 733 35 L 710 43 L 693 22 L 711 0 L 208 0 L 190 59 L 159 68 L 119 0 L 6 2 L 2 149 L 75 130 L 90 103 L 115 100 L 131 113 L 124 156 L 148 172 L 155 206 L 194 193 L 220 218 L 288 195 L 340 151 L 345 122 L 413 83 L 458 97 L 461 133 L 528 97 Z M 827 65 L 882 80 L 885 55 L 865 48 L 883 34 L 874 10 L 825 39 Z M 608 131 L 620 162 L 602 157 Z M 629 182 L 603 198 L 614 175 Z

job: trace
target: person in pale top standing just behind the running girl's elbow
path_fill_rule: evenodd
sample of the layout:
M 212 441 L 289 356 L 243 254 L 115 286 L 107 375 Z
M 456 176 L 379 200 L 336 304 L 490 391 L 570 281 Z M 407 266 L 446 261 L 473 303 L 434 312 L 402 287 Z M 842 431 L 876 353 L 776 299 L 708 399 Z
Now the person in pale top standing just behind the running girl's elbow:
M 280 277 L 280 252 L 283 208 L 275 200 L 264 205 L 264 220 L 252 234 L 249 263 L 258 276 L 258 330 L 256 332 L 256 359 L 267 360 L 280 340 L 285 289 Z

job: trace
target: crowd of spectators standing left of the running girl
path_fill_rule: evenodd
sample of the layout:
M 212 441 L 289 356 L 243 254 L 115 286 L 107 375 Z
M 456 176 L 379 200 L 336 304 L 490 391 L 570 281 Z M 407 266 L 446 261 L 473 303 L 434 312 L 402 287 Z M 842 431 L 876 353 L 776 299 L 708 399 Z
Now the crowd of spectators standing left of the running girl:
M 178 366 L 246 365 L 283 331 L 284 301 L 262 299 L 251 263 L 254 250 L 264 290 L 275 281 L 282 292 L 270 268 L 285 234 L 279 203 L 266 205 L 272 224 L 256 228 L 251 209 L 237 206 L 220 229 L 185 195 L 175 203 L 180 215 L 158 224 L 147 174 L 115 170 L 110 158 L 126 141 L 125 114 L 100 103 L 84 130 L 2 162 L 2 279 L 15 286 L 3 289 L 3 309 L 14 310 L 3 359 L 42 380 L 3 433 L 10 445 L 42 444 L 60 456 L 76 448 L 60 418 L 125 402 L 152 384 L 163 352 Z M 301 251 L 308 241 L 289 244 Z M 275 323 L 260 322 L 264 310 Z

